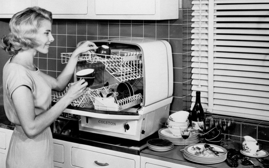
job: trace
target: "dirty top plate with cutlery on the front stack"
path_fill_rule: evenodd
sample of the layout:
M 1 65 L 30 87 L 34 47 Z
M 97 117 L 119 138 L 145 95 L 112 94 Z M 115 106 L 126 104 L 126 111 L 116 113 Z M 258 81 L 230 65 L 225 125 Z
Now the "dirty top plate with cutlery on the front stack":
M 227 155 L 227 150 L 222 148 L 221 146 L 217 146 L 217 145 L 213 145 L 213 144 L 210 144 L 210 146 L 212 146 L 215 150 L 217 151 L 220 151 L 220 152 L 224 152 L 224 153 L 219 153 L 218 155 L 219 156 L 216 156 L 210 152 L 205 152 L 205 153 L 202 153 L 200 155 L 197 155 L 197 152 L 199 152 L 199 150 L 197 150 L 195 147 L 199 147 L 201 149 L 205 149 L 204 147 L 205 144 L 192 144 L 192 145 L 188 145 L 185 147 L 185 150 L 184 150 L 184 153 L 188 153 L 189 155 L 192 155 L 194 156 L 195 158 L 201 158 L 201 159 L 205 159 L 205 158 L 218 158 L 222 155 Z

